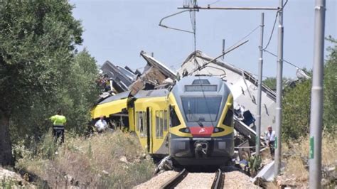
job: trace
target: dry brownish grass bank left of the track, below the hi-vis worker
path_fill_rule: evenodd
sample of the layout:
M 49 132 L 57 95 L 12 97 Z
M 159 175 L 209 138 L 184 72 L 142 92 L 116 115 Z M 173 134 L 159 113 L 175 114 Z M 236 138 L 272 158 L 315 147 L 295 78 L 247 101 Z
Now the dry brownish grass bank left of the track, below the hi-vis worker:
M 154 163 L 142 158 L 144 152 L 131 134 L 115 131 L 90 139 L 66 139 L 58 155 L 46 156 L 41 151 L 20 159 L 18 167 L 38 175 L 52 188 L 132 188 L 151 178 L 154 171 Z M 49 144 L 48 139 L 43 143 Z

